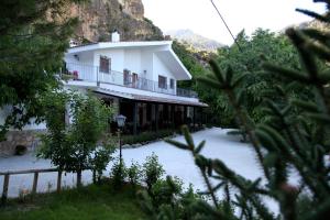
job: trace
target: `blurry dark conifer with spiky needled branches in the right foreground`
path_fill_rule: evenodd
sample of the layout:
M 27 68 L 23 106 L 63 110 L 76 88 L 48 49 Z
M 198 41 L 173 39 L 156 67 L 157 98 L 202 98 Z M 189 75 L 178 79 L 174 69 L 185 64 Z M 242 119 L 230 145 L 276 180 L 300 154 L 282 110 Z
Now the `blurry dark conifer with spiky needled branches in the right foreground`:
M 329 1 L 318 2 L 326 3 L 327 9 L 330 9 Z M 307 10 L 299 11 L 321 22 L 330 23 L 329 11 L 324 15 Z M 239 75 L 231 66 L 223 70 L 216 61 L 212 61 L 210 65 L 213 74 L 200 78 L 202 84 L 228 97 L 238 123 L 249 135 L 263 176 L 246 179 L 220 160 L 205 157 L 200 152 L 207 143 L 204 141 L 196 144 L 187 128 L 183 129 L 185 143 L 167 141 L 191 152 L 207 186 L 205 195 L 209 196 L 211 202 L 190 200 L 182 206 L 183 209 L 194 213 L 190 219 L 329 218 L 330 69 L 326 64 L 330 58 L 330 35 L 316 29 L 293 28 L 288 29 L 286 34 L 299 54 L 298 68 L 290 65 L 278 66 L 271 59 L 266 62 L 262 59 L 262 68 L 268 77 L 294 81 L 300 88 L 310 87 L 312 96 L 292 96 L 295 92 L 293 89 L 283 84 L 277 85 L 277 96 L 274 99 L 263 100 L 265 103 L 263 111 L 267 120 L 254 123 L 249 119 L 241 95 L 246 92 L 248 88 L 242 89 L 240 86 L 244 78 L 249 77 L 246 74 Z M 320 66 L 319 62 L 323 65 Z M 265 90 L 267 88 L 261 92 Z M 293 169 L 300 177 L 297 185 L 288 180 Z M 220 189 L 226 194 L 223 200 L 217 197 Z M 265 197 L 278 204 L 278 216 L 264 204 Z M 163 211 L 158 216 L 172 219 L 176 212 L 175 208 L 168 207 L 166 212 Z

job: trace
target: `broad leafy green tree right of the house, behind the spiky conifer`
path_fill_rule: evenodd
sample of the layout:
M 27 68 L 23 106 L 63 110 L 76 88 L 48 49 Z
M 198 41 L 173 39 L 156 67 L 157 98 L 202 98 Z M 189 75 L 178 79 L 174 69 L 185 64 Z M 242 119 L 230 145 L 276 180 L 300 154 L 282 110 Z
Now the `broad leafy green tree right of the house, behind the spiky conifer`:
M 245 75 L 240 88 L 244 89 L 242 99 L 253 122 L 265 120 L 263 114 L 263 99 L 273 99 L 277 96 L 277 86 L 287 85 L 290 81 L 282 76 L 270 76 L 263 67 L 262 62 L 272 61 L 277 65 L 286 65 L 290 68 L 299 69 L 299 56 L 295 47 L 284 34 L 275 34 L 268 30 L 257 29 L 251 37 L 242 31 L 238 37 L 238 43 L 230 47 L 220 48 L 217 62 L 220 68 L 231 66 L 237 76 Z M 295 88 L 298 94 L 308 94 L 308 88 Z M 218 92 L 219 94 L 219 92 Z M 234 123 L 233 109 L 229 105 L 227 96 L 218 95 L 216 99 L 218 110 L 222 110 L 222 116 L 227 121 L 224 124 Z

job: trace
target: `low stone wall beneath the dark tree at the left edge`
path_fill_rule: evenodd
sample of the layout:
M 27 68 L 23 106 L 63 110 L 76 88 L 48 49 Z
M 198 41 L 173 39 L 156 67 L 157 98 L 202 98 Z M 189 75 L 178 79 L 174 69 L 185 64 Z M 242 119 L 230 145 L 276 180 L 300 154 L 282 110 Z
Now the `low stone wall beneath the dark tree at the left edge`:
M 40 142 L 37 135 L 45 131 L 9 131 L 7 133 L 7 141 L 0 142 L 0 157 L 13 155 L 18 145 L 26 146 L 28 151 L 34 150 Z

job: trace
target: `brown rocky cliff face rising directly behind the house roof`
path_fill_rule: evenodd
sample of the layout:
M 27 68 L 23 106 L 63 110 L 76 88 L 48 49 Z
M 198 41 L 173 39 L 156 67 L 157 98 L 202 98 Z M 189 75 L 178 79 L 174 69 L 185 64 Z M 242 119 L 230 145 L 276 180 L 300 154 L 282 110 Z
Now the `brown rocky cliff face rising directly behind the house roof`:
M 68 15 L 78 16 L 75 32 L 78 42 L 110 41 L 110 33 L 118 30 L 122 41 L 163 40 L 162 31 L 144 18 L 142 0 L 90 0 L 70 6 Z

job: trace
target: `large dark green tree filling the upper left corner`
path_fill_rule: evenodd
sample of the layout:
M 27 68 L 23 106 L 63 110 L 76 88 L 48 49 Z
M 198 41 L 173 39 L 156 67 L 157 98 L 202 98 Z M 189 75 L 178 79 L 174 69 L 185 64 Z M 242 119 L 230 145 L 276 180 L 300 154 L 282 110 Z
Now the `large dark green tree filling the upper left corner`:
M 65 9 L 82 1 L 0 2 L 0 109 L 11 107 L 0 124 L 0 141 L 10 127 L 22 129 L 31 118 L 43 116 L 37 99 L 57 86 L 55 74 L 77 24 L 77 19 L 65 15 Z

